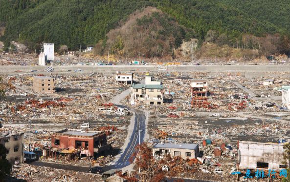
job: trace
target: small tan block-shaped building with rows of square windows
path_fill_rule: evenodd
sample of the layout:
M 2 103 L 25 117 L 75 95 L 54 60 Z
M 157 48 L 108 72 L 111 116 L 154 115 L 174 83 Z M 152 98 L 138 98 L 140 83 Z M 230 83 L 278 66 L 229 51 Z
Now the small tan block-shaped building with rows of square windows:
M 53 93 L 54 79 L 51 77 L 33 77 L 33 90 L 39 93 Z

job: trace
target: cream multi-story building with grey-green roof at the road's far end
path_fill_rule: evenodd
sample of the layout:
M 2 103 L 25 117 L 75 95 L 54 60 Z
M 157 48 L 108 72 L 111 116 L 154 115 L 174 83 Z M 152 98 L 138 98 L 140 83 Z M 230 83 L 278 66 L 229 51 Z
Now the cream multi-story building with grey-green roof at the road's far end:
M 135 101 L 146 104 L 163 104 L 163 85 L 160 81 L 153 81 L 152 76 L 146 76 L 145 84 L 132 84 L 130 87 L 131 103 Z

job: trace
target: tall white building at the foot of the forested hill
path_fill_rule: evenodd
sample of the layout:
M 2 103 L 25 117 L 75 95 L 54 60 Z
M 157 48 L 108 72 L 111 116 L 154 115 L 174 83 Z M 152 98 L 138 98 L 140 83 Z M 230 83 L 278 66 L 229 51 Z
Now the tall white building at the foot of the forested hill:
M 43 52 L 38 57 L 38 64 L 41 66 L 51 65 L 51 61 L 54 61 L 54 44 L 44 43 Z

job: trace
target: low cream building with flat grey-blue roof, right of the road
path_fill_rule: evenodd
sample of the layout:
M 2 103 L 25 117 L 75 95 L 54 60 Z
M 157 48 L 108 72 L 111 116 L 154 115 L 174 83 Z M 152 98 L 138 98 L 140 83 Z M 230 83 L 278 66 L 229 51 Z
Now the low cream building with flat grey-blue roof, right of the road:
M 195 159 L 200 154 L 199 144 L 195 143 L 157 143 L 153 148 L 153 156 L 162 159 L 167 156 L 180 156 L 182 159 Z

